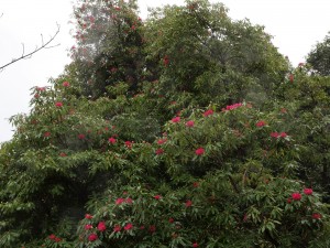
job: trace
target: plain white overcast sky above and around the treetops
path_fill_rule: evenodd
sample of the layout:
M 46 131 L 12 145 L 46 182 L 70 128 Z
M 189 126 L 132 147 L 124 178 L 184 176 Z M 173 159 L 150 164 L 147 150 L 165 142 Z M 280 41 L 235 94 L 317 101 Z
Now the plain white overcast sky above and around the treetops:
M 147 7 L 183 3 L 183 0 L 139 0 L 141 15 Z M 215 0 L 212 2 L 216 2 Z M 330 31 L 329 0 L 222 0 L 232 19 L 248 18 L 265 26 L 274 36 L 273 43 L 287 55 L 293 65 L 304 57 L 317 41 Z M 70 0 L 0 0 L 0 66 L 25 51 L 41 45 L 41 34 L 46 41 L 61 24 L 61 32 L 53 45 L 30 60 L 14 63 L 0 73 L 0 143 L 12 136 L 8 118 L 29 111 L 30 88 L 44 86 L 69 63 L 67 50 L 74 44 L 68 24 L 73 3 Z

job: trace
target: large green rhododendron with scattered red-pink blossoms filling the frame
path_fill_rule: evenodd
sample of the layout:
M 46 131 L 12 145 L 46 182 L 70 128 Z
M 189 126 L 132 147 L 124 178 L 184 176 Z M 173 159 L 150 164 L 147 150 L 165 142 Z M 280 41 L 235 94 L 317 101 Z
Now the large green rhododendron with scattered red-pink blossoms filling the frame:
M 187 1 L 80 1 L 0 150 L 0 247 L 330 246 L 329 78 Z

